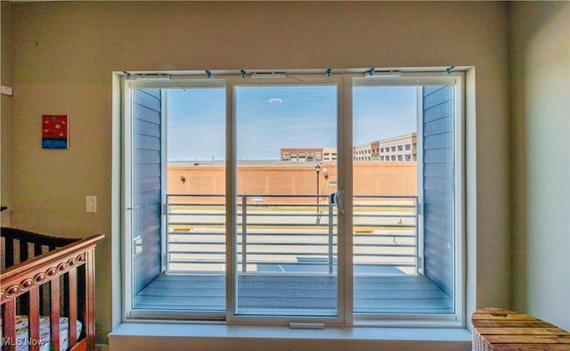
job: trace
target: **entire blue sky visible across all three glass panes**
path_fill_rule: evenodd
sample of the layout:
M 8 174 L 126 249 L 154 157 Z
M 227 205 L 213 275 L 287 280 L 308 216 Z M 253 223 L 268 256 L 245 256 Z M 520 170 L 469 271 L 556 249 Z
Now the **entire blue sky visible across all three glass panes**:
M 417 130 L 415 86 L 355 86 L 353 144 Z M 337 86 L 238 86 L 238 159 L 281 148 L 337 147 Z M 168 89 L 168 161 L 225 159 L 225 88 Z

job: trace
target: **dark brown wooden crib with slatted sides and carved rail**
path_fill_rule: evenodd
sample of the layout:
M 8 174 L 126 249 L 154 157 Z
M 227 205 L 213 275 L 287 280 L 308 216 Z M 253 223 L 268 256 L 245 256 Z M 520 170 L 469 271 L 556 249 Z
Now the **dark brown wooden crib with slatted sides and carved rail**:
M 94 249 L 102 238 L 2 228 L 2 350 L 94 349 Z

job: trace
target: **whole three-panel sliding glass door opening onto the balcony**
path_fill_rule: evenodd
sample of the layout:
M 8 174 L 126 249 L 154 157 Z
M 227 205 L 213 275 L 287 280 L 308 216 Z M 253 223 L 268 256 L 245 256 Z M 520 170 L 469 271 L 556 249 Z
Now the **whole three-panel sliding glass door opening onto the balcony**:
M 460 320 L 461 76 L 368 75 L 126 78 L 127 317 Z

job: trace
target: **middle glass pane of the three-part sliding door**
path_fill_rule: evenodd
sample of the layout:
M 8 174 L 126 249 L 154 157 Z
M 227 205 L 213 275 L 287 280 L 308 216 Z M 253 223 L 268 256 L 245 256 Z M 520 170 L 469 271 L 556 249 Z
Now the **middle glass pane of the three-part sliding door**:
M 237 315 L 338 315 L 338 86 L 236 86 Z

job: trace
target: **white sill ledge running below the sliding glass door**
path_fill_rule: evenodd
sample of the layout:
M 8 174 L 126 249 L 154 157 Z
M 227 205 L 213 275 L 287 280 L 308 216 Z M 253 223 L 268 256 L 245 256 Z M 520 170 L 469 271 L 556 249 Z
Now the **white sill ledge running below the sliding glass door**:
M 124 322 L 109 334 L 110 350 L 122 349 L 438 349 L 470 350 L 471 333 L 442 328 L 326 328 L 216 323 Z M 357 345 L 357 347 L 356 347 Z

